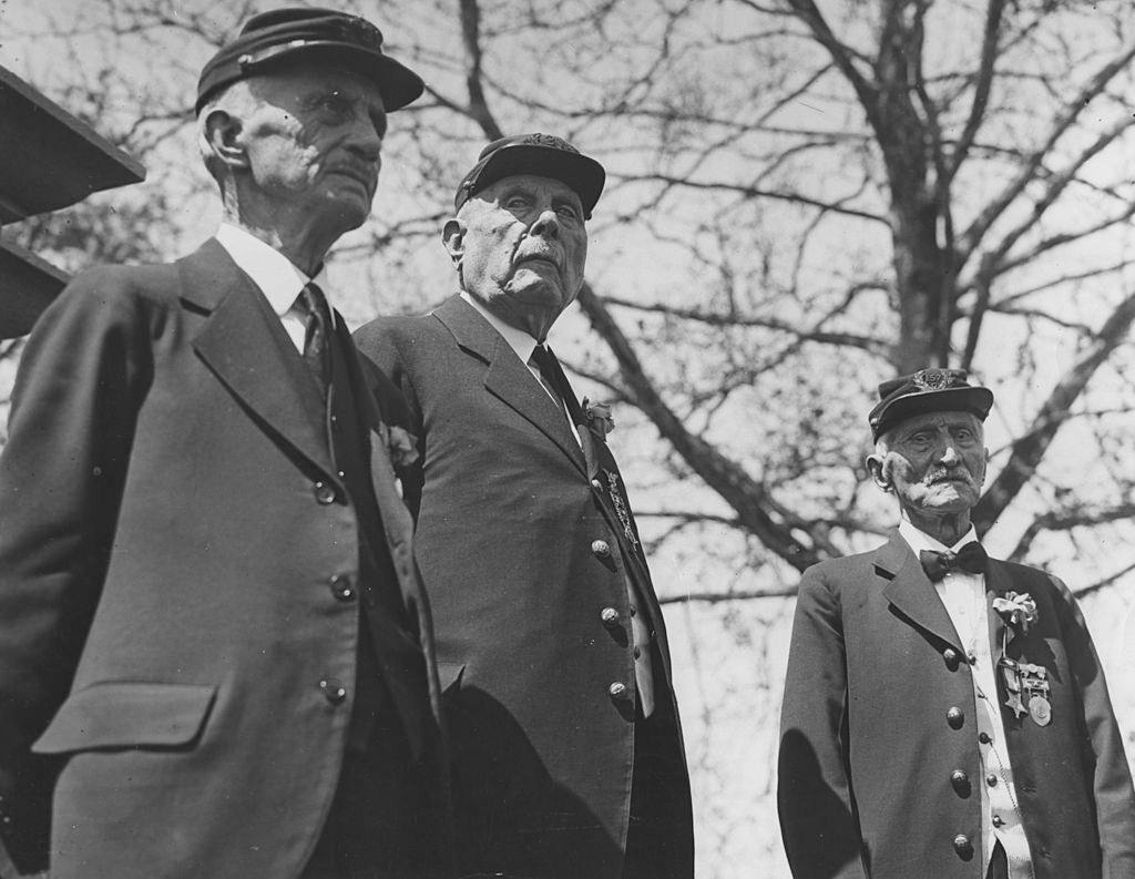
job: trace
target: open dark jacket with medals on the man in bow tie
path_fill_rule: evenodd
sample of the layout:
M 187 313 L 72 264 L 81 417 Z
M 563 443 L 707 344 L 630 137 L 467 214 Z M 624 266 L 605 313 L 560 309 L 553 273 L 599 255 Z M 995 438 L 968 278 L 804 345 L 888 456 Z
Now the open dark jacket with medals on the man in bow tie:
M 990 602 L 1025 592 L 1040 614 L 1009 654 L 1049 670 L 1051 723 L 1001 709 L 1036 879 L 1132 879 L 1135 795 L 1076 602 L 1058 579 L 1020 564 L 990 560 L 985 581 Z M 1003 623 L 989 616 L 997 658 Z M 805 572 L 777 790 L 797 879 L 983 879 L 975 696 L 960 656 L 945 606 L 897 533 Z M 960 725 L 957 712 L 948 722 L 952 708 Z M 951 779 L 959 769 L 972 785 Z

